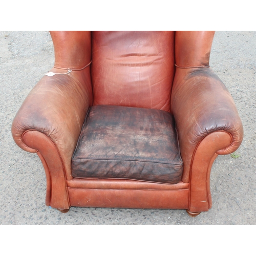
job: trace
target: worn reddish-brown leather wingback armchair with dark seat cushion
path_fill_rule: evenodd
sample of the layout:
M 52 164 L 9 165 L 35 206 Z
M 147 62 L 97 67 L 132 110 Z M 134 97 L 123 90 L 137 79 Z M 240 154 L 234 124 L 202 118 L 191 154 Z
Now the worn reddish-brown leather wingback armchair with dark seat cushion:
M 233 99 L 209 67 L 214 32 L 51 36 L 55 75 L 36 84 L 12 124 L 17 145 L 44 165 L 46 205 L 190 216 L 211 208 L 211 165 L 243 139 Z

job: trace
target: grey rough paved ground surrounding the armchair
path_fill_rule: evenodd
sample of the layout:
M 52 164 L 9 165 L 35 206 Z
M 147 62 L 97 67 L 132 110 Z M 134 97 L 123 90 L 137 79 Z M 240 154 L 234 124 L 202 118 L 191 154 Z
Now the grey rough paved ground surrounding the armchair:
M 44 168 L 15 144 L 11 124 L 53 63 L 49 32 L 0 32 L 0 224 L 256 224 L 256 31 L 218 31 L 212 44 L 210 65 L 236 102 L 244 140 L 236 156 L 215 161 L 212 208 L 196 218 L 158 209 L 71 207 L 62 214 L 45 205 Z

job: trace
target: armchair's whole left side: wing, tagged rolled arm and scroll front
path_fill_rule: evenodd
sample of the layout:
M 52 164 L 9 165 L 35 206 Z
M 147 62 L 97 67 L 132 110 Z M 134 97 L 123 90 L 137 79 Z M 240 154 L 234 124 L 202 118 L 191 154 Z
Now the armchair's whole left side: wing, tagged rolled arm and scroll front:
M 55 52 L 51 72 L 72 72 L 44 76 L 36 84 L 15 116 L 12 134 L 18 146 L 37 153 L 44 164 L 46 204 L 51 201 L 52 207 L 67 209 L 66 179 L 72 179 L 71 157 L 93 101 L 87 66 L 91 61 L 91 32 L 51 32 L 51 36 Z

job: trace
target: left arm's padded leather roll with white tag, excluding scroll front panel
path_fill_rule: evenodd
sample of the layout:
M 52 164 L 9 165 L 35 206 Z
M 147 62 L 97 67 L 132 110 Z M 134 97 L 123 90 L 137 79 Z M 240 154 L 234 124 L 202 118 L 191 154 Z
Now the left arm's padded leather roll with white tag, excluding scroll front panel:
M 51 72 L 66 73 L 53 68 Z M 12 136 L 23 150 L 35 153 L 23 141 L 23 134 L 36 130 L 57 147 L 66 172 L 89 107 L 92 105 L 90 67 L 70 75 L 44 76 L 32 89 L 12 123 Z

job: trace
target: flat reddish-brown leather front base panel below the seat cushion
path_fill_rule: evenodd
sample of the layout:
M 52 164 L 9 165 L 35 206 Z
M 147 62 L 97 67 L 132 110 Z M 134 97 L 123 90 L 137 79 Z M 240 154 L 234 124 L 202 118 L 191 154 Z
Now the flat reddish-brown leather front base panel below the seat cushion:
M 189 189 L 68 188 L 70 206 L 100 208 L 188 209 Z

